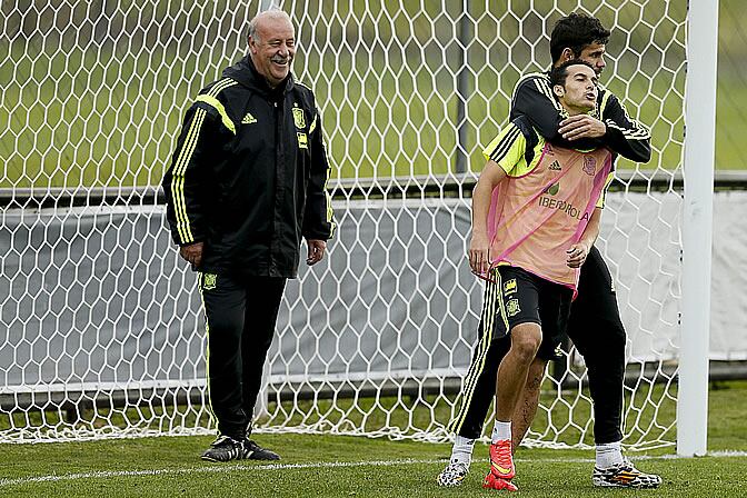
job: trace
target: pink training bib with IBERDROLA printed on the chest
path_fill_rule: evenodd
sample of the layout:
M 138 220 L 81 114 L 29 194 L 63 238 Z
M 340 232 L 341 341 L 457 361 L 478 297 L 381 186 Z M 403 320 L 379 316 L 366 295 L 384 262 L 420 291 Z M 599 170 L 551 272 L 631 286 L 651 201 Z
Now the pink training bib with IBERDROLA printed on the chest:
M 579 268 L 566 250 L 580 240 L 612 168 L 605 149 L 579 152 L 546 143 L 537 166 L 492 191 L 491 263 L 511 265 L 576 290 Z

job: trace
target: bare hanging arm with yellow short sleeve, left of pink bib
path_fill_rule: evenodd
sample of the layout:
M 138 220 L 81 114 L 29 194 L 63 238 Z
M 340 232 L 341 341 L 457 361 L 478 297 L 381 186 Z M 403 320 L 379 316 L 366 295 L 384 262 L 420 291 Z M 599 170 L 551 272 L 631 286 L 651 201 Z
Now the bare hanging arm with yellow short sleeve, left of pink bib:
M 488 212 L 492 191 L 524 158 L 526 148 L 524 133 L 510 122 L 482 151 L 487 162 L 472 189 L 472 237 L 468 251 L 469 266 L 476 273 L 490 269 Z

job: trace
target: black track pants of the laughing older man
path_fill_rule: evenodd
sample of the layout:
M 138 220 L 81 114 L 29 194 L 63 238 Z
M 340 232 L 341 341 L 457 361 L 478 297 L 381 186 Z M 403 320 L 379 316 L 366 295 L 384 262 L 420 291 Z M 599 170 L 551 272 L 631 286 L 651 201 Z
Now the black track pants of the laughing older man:
M 210 406 L 220 434 L 241 438 L 251 422 L 286 279 L 200 273 L 199 280 Z

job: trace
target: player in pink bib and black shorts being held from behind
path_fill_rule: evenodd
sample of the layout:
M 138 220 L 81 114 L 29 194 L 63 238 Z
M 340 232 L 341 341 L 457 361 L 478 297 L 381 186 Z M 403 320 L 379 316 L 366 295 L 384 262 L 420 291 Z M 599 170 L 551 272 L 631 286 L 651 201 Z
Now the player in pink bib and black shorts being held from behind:
M 597 74 L 582 61 L 550 74 L 552 92 L 569 116 L 590 112 Z M 510 153 L 506 153 L 509 148 Z M 602 193 L 614 155 L 551 147 L 518 118 L 486 148 L 488 159 L 472 197 L 469 265 L 489 280 L 498 300 L 496 335 L 511 348 L 498 368 L 490 471 L 484 486 L 516 490 L 511 416 L 542 336 L 565 332 L 579 269 L 599 233 Z M 498 162 L 495 159 L 498 159 Z M 485 302 L 485 309 L 496 303 Z

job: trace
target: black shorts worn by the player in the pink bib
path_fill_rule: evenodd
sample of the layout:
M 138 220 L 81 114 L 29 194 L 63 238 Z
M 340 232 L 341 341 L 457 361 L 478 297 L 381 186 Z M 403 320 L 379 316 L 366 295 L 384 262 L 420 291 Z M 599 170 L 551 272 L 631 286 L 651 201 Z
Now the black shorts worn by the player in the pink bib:
M 495 283 L 488 287 L 495 298 L 486 299 L 485 306 L 495 307 L 494 338 L 505 337 L 517 325 L 537 323 L 542 329 L 537 357 L 548 361 L 560 357 L 574 291 L 518 267 L 500 266 L 492 275 Z

